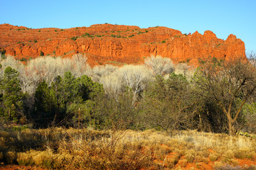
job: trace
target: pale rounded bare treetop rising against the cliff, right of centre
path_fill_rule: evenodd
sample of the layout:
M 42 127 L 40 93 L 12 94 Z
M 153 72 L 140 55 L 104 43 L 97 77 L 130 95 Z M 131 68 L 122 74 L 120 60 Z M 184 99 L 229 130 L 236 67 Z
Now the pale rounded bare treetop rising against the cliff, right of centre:
M 163 76 L 164 74 L 169 74 L 174 72 L 174 64 L 169 58 L 151 55 L 145 59 L 146 67 L 149 67 L 154 76 Z

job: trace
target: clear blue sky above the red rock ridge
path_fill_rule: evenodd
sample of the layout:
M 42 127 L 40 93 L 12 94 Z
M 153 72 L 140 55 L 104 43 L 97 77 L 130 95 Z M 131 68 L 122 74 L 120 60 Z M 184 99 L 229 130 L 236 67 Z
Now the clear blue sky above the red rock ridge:
M 166 26 L 194 33 L 234 34 L 256 52 L 256 0 L 1 0 L 0 23 L 28 28 L 73 28 L 96 23 L 148 28 Z

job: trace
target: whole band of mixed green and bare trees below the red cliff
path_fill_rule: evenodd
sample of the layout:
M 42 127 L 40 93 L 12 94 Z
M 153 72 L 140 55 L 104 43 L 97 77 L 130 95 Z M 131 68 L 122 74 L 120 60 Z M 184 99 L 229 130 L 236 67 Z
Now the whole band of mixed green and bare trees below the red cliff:
M 151 56 L 91 68 L 83 55 L 1 60 L 0 118 L 49 126 L 255 132 L 255 67 L 208 57 L 193 69 Z

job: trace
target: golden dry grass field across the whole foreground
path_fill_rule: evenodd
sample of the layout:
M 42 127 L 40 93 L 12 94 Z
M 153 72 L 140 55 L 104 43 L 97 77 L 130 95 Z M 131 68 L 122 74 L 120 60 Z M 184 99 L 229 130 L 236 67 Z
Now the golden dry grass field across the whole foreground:
M 174 169 L 177 163 L 202 162 L 218 162 L 216 169 L 231 167 L 226 164 L 238 169 L 236 159 L 256 156 L 253 137 L 196 131 L 49 128 L 0 133 L 2 162 L 48 169 Z

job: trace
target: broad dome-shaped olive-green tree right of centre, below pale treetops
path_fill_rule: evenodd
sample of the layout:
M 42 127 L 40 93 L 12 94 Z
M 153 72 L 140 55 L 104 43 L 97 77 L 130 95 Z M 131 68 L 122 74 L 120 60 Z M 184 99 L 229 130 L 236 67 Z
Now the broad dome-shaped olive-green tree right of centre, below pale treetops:
M 197 128 L 195 91 L 186 77 L 172 73 L 169 79 L 156 77 L 144 93 L 139 123 L 144 128 L 181 130 Z

